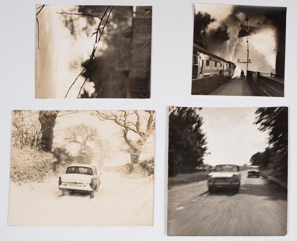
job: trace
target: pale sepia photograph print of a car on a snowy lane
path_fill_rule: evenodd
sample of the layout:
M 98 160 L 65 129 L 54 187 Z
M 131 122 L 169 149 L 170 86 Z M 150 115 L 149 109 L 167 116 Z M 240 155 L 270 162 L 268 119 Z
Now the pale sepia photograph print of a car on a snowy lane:
M 8 225 L 152 226 L 155 111 L 12 111 Z

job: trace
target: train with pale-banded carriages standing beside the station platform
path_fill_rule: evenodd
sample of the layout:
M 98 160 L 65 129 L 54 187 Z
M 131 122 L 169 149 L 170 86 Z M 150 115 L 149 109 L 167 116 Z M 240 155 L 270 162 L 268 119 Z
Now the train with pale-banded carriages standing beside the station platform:
M 229 80 L 236 65 L 193 44 L 192 94 L 211 92 L 219 83 Z

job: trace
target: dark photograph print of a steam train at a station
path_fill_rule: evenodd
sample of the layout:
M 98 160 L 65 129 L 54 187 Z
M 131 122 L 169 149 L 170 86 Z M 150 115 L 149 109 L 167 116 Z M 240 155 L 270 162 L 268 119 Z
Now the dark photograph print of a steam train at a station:
M 195 4 L 192 94 L 284 97 L 286 12 Z

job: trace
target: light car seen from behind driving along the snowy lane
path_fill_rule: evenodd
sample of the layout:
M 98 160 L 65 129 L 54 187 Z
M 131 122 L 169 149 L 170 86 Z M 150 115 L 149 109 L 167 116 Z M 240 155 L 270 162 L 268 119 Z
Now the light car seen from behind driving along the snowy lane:
M 69 191 L 88 192 L 90 198 L 93 198 L 99 185 L 100 176 L 94 165 L 72 164 L 67 167 L 66 173 L 59 177 L 58 188 L 62 191 L 62 195 Z

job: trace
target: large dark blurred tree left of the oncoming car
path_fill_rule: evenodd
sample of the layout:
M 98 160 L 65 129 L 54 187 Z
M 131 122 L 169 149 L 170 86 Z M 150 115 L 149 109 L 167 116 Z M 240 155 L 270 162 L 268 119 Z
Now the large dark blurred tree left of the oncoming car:
M 168 176 L 194 172 L 203 163 L 208 153 L 202 123 L 196 108 L 170 108 Z

